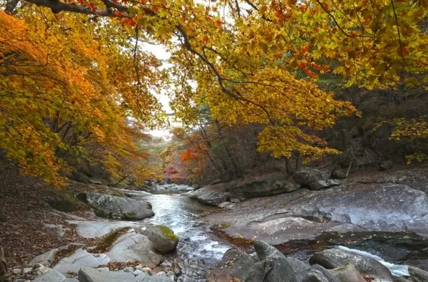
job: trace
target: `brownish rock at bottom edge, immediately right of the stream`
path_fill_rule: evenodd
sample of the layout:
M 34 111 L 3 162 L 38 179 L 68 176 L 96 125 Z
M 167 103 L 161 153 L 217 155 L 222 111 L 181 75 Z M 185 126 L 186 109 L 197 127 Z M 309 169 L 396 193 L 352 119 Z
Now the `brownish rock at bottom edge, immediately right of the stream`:
M 256 263 L 255 259 L 246 252 L 239 249 L 227 250 L 222 261 L 211 271 L 211 275 L 206 279 L 207 282 L 231 281 L 246 276 L 248 270 Z

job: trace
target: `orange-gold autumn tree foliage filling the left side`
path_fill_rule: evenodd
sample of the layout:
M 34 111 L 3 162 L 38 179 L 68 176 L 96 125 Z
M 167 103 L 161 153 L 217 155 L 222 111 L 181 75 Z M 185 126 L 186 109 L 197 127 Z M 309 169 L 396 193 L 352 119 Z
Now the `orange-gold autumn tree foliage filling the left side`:
M 144 176 L 137 142 L 147 138 L 142 125 L 162 121 L 150 94 L 162 73 L 120 29 L 33 7 L 0 12 L 1 148 L 23 172 L 61 185 L 67 160 L 78 158 L 113 177 L 124 164 Z

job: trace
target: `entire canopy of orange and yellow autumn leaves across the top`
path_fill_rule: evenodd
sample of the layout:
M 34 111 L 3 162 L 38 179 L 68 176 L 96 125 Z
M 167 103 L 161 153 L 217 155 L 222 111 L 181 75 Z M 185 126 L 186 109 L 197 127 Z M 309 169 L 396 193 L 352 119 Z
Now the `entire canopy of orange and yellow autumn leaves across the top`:
M 427 90 L 427 0 L 2 0 L 0 8 L 1 148 L 54 183 L 70 155 L 118 175 L 150 173 L 138 140 L 164 124 L 153 96 L 162 90 L 185 127 L 208 109 L 222 124 L 260 125 L 260 152 L 309 159 L 338 153 L 316 132 L 360 115 L 320 80 Z M 164 46 L 172 67 L 142 42 Z M 393 138 L 428 137 L 423 112 L 385 122 L 398 124 Z M 102 154 L 88 156 L 94 147 Z

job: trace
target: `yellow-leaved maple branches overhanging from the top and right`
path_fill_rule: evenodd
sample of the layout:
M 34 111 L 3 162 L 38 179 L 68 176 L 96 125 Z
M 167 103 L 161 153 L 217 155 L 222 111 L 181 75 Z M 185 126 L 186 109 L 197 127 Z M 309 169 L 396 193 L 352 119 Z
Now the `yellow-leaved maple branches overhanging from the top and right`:
M 41 12 L 28 12 L 35 6 Z M 426 86 L 427 8 L 426 0 L 6 3 L 7 12 L 25 14 L 32 28 L 43 19 L 40 13 L 69 17 L 60 26 L 71 30 L 84 22 L 87 50 L 97 50 L 90 40 L 107 38 L 108 32 L 114 35 L 107 39 L 112 44 L 164 44 L 172 54 L 173 109 L 184 124 L 197 124 L 197 109 L 206 105 L 213 120 L 263 125 L 258 150 L 286 158 L 296 151 L 307 158 L 337 153 L 314 130 L 358 114 L 351 103 L 318 88 L 320 74 L 333 72 L 346 77 L 348 85 L 367 89 Z M 66 33 L 61 30 L 59 36 L 66 39 Z M 128 85 L 141 88 L 139 77 L 134 79 L 137 83 Z M 129 100 L 130 109 L 141 114 L 135 106 L 142 103 Z M 426 121 L 420 126 L 426 134 Z

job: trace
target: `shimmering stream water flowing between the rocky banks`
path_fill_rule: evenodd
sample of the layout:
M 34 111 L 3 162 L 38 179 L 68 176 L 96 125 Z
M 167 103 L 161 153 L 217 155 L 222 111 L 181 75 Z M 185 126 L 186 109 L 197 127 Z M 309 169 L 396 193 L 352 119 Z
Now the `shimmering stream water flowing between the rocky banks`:
M 206 275 L 231 245 L 216 239 L 208 226 L 197 218 L 220 209 L 175 193 L 152 194 L 140 199 L 153 205 L 155 216 L 148 221 L 167 225 L 179 236 L 177 251 L 171 256 L 171 259 L 177 259 L 182 267 L 182 275 L 178 281 L 206 281 Z M 168 257 L 166 259 L 168 261 Z

